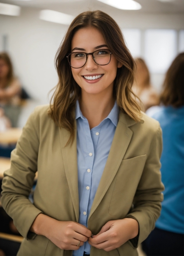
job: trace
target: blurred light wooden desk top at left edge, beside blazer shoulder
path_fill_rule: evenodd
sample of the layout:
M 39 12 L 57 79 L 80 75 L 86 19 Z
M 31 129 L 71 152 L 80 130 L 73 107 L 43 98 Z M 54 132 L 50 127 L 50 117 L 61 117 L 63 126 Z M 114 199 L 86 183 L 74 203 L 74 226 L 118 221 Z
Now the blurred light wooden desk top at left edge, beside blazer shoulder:
M 22 129 L 20 128 L 10 128 L 6 131 L 0 132 L 0 144 L 13 144 L 17 143 L 17 140 L 22 134 Z

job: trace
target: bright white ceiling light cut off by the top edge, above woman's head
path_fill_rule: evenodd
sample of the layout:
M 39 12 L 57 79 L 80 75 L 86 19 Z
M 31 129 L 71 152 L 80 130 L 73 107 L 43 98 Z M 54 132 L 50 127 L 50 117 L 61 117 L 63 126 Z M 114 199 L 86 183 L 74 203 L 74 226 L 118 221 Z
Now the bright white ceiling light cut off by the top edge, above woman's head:
M 97 0 L 121 10 L 140 10 L 140 3 L 133 0 Z

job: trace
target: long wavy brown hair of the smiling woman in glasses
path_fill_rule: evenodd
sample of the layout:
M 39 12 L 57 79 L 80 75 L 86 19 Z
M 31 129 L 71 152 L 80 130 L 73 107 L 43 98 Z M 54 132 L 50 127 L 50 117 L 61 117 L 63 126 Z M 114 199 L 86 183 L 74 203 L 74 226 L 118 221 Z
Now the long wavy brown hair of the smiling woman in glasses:
M 74 109 L 81 88 L 73 79 L 66 55 L 71 51 L 74 33 L 78 29 L 90 26 L 102 33 L 116 60 L 123 64 L 122 68 L 117 69 L 114 81 L 114 96 L 120 110 L 124 110 L 135 121 L 140 121 L 140 107 L 132 97 L 134 94 L 131 90 L 135 64 L 125 45 L 121 30 L 115 20 L 106 13 L 98 10 L 86 11 L 79 14 L 70 24 L 55 59 L 59 82 L 53 95 L 53 104 L 50 104 L 49 115 L 56 125 L 70 132 L 69 141 L 73 141 L 74 138 Z

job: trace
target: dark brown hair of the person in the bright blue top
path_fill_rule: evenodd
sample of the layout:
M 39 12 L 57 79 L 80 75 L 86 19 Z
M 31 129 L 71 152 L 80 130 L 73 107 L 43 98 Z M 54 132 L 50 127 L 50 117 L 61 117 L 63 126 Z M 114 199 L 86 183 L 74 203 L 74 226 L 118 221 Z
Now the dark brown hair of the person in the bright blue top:
M 169 67 L 160 101 L 165 106 L 173 106 L 175 108 L 184 105 L 184 53 L 180 53 Z

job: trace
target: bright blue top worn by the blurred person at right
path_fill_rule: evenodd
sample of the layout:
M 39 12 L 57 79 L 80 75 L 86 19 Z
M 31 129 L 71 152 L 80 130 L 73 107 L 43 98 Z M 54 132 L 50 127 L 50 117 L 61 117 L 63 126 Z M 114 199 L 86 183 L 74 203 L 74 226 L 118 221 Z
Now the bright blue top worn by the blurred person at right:
M 152 107 L 147 114 L 160 122 L 163 132 L 161 175 L 165 185 L 161 216 L 156 227 L 184 233 L 184 107 Z

